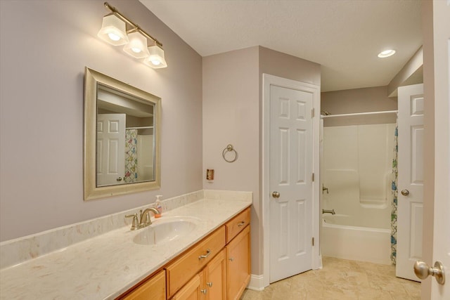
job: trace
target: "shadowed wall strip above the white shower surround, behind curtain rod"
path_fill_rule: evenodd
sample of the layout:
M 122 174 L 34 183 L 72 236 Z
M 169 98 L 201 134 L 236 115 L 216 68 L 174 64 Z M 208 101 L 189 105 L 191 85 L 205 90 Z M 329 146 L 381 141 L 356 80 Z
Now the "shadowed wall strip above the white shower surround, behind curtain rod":
M 321 110 L 326 110 L 331 115 L 397 110 L 397 97 L 389 98 L 387 96 L 387 86 L 329 91 L 321 93 Z M 324 125 L 395 123 L 395 120 L 395 115 L 365 116 L 359 119 L 340 117 L 325 119 Z

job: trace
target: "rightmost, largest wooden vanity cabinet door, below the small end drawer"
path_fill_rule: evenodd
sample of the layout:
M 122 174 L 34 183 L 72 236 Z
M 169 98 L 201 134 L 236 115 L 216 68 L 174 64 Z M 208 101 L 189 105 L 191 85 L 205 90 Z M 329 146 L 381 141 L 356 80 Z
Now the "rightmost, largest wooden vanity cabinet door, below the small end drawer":
M 236 300 L 250 282 L 250 226 L 226 246 L 226 299 Z

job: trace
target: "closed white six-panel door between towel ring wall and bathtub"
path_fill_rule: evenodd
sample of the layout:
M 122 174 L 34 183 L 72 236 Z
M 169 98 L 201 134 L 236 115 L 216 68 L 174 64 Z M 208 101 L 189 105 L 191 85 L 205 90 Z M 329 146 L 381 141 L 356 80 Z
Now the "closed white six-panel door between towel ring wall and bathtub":
M 270 282 L 312 268 L 312 105 L 312 93 L 270 86 Z

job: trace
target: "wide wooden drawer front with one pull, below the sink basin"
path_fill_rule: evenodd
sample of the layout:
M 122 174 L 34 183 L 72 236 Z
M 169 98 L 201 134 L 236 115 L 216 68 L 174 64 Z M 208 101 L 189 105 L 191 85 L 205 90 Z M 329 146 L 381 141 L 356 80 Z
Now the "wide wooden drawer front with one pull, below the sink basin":
M 167 266 L 168 299 L 225 247 L 225 239 L 225 227 L 221 226 Z

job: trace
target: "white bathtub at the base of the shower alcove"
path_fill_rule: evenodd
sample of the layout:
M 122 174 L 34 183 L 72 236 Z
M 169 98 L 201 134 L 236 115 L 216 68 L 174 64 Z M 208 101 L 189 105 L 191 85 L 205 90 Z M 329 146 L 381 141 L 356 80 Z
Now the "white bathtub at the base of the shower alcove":
M 390 229 L 352 226 L 352 216 L 323 214 L 321 255 L 390 265 Z

